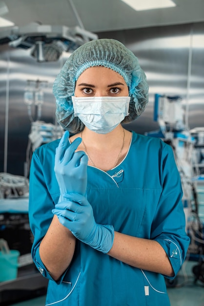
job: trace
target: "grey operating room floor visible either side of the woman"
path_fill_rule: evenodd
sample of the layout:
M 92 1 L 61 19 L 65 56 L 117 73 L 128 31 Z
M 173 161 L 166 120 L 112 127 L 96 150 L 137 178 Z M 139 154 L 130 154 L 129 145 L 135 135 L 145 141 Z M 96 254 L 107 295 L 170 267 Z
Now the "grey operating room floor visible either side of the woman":
M 198 262 L 184 262 L 183 268 L 177 276 L 177 285 L 175 287 L 168 287 L 171 306 L 204 306 L 204 283 L 197 281 L 194 284 L 192 267 L 196 264 Z M 44 305 L 45 296 L 12 304 L 12 306 Z

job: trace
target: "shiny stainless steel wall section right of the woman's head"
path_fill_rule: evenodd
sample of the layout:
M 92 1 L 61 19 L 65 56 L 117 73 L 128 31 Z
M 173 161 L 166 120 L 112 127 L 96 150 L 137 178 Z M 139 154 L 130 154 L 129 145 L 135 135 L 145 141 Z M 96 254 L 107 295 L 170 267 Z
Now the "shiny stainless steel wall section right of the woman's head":
M 158 129 L 154 95 L 180 95 L 189 128 L 204 126 L 204 23 L 100 33 L 121 40 L 139 58 L 149 84 L 149 103 L 132 125 L 138 132 Z

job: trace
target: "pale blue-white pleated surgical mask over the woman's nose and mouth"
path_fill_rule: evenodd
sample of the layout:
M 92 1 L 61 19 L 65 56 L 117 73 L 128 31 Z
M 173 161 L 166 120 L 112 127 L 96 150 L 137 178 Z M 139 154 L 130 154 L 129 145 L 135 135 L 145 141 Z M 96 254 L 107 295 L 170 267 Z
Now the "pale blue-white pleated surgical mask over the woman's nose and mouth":
M 91 131 L 113 131 L 129 114 L 130 97 L 72 97 L 74 115 Z

